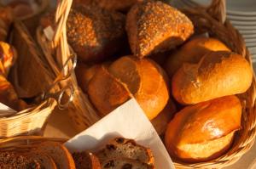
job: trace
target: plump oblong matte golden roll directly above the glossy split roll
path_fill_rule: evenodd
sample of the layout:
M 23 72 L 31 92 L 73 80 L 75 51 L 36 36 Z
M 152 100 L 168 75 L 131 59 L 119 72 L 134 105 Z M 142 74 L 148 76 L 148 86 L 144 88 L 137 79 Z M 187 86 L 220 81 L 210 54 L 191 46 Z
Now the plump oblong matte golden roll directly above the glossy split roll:
M 181 104 L 197 104 L 222 96 L 245 93 L 253 70 L 239 54 L 206 54 L 198 64 L 184 64 L 172 77 L 172 94 Z

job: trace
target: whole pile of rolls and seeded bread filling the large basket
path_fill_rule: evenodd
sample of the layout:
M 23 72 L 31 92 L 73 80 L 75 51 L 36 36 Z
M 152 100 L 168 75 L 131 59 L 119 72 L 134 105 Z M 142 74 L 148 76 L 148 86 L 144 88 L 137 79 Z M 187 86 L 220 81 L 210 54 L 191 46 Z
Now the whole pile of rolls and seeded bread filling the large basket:
M 54 14 L 42 18 L 44 28 L 54 26 Z M 172 158 L 207 161 L 241 128 L 236 94 L 251 86 L 253 70 L 223 42 L 194 31 L 160 1 L 77 0 L 67 19 L 77 80 L 98 115 L 135 98 Z

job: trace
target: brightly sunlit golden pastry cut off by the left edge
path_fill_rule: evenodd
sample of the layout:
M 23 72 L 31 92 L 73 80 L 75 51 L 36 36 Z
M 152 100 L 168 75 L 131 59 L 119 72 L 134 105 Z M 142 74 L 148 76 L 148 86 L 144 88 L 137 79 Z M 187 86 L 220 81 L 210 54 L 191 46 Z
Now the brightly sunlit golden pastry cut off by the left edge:
M 10 68 L 15 64 L 17 52 L 7 42 L 0 41 L 0 74 L 7 77 Z

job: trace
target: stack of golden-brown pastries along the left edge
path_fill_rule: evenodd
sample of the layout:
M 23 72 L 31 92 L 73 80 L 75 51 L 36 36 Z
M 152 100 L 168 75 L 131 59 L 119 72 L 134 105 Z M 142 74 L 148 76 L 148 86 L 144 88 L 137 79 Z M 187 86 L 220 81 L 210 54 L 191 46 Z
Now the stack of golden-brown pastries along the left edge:
M 0 103 L 8 105 L 14 110 L 24 110 L 28 106 L 19 99 L 15 88 L 8 81 L 9 71 L 17 59 L 17 52 L 7 41 L 10 26 L 15 17 L 10 7 L 0 7 Z M 3 116 L 5 114 L 2 113 Z

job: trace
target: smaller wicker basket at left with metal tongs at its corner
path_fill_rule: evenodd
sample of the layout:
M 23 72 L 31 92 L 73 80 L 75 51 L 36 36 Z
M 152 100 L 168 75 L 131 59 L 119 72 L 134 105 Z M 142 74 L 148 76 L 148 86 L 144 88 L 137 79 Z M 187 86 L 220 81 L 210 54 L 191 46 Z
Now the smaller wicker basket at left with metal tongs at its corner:
M 10 81 L 21 98 L 32 98 L 36 104 L 17 113 L 4 112 L 4 117 L 0 115 L 0 138 L 43 134 L 55 107 L 65 109 L 73 99 L 72 86 L 59 85 L 69 75 L 62 76 L 61 70 L 56 75 L 50 71 L 26 26 L 16 22 L 14 27 L 10 42 L 17 49 L 18 57 L 10 71 Z

